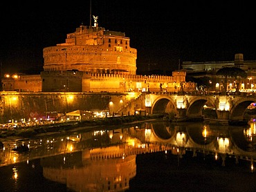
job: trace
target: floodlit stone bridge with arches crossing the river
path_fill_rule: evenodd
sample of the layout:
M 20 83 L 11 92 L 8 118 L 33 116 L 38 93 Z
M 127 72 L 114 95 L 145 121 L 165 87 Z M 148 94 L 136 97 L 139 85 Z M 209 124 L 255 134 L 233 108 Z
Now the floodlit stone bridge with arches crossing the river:
M 253 94 L 221 95 L 219 93 L 145 93 L 147 113 L 174 113 L 176 119 L 202 118 L 205 104 L 216 111 L 217 119 L 242 121 L 246 108 L 256 102 Z

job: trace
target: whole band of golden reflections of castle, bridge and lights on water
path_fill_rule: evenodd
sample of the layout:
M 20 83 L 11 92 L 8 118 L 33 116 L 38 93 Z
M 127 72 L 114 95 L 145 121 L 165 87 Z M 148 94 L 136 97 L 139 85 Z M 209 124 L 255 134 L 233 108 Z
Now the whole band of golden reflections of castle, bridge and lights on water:
M 73 191 L 128 190 L 129 182 L 136 177 L 138 155 L 147 153 L 176 155 L 178 166 L 188 154 L 203 154 L 223 167 L 228 159 L 235 160 L 235 164 L 245 161 L 250 164 L 248 172 L 253 173 L 255 127 L 255 122 L 244 127 L 146 122 L 30 140 L 3 140 L 0 164 L 13 164 L 12 180 L 18 180 L 19 162 L 30 164 L 40 159 L 44 178 L 65 184 Z M 28 153 L 13 151 L 21 144 L 29 146 Z

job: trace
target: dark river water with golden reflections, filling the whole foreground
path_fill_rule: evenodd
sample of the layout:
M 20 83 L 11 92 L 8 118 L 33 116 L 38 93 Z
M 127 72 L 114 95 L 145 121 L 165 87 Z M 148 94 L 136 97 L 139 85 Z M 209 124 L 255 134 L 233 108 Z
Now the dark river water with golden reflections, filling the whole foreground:
M 202 137 L 203 126 L 158 122 L 77 131 L 64 144 L 66 135 L 22 141 L 30 142 L 30 152 L 18 155 L 8 147 L 21 140 L 3 141 L 0 191 L 256 191 L 255 135 L 246 135 L 248 127 L 208 126 L 211 136 Z M 181 133 L 186 137 L 179 140 Z M 229 139 L 225 153 L 220 137 Z M 71 145 L 73 151 L 63 148 Z M 15 155 L 20 162 L 12 162 Z

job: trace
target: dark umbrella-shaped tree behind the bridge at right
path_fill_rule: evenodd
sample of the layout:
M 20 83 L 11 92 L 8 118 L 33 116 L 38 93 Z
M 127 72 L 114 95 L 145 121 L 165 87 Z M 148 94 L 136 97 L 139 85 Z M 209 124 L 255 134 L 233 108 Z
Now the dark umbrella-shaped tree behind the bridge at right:
M 245 79 L 247 77 L 247 73 L 245 72 L 245 70 L 242 70 L 241 68 L 237 68 L 237 67 L 224 67 L 224 68 L 221 68 L 221 69 L 219 69 L 217 71 L 216 75 L 222 75 L 222 76 L 225 77 L 225 80 L 224 80 L 224 90 L 225 90 L 225 93 L 227 92 L 228 76 L 234 78 L 234 81 L 237 84 L 236 92 L 239 92 L 239 81 L 237 81 L 237 79 L 240 79 L 240 77 Z

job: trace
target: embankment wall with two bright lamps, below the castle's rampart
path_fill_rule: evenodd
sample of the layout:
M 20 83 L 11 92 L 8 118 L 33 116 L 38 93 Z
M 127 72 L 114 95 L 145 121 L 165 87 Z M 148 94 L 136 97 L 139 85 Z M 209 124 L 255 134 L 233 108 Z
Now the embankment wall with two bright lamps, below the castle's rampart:
M 46 113 L 65 113 L 75 110 L 108 110 L 110 97 L 105 93 L 8 93 L 0 95 L 0 122 L 22 118 L 45 118 Z M 117 103 L 118 104 L 118 103 Z M 118 106 L 117 106 L 118 107 Z

